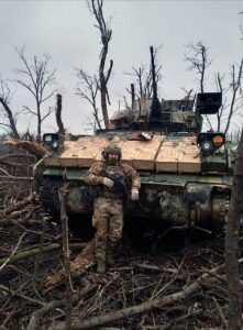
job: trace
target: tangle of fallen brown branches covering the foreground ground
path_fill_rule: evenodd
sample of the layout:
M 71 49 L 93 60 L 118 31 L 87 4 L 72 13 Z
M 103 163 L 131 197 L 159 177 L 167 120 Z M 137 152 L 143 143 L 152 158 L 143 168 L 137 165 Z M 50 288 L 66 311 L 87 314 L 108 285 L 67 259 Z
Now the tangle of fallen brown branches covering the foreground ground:
M 45 219 L 40 209 L 33 215 Z M 48 220 L 34 228 L 2 227 L 0 329 L 65 329 L 59 231 Z M 82 242 L 79 251 L 70 244 L 70 329 L 225 329 L 222 238 L 199 242 L 184 254 L 123 249 L 104 275 L 93 267 L 92 242 Z

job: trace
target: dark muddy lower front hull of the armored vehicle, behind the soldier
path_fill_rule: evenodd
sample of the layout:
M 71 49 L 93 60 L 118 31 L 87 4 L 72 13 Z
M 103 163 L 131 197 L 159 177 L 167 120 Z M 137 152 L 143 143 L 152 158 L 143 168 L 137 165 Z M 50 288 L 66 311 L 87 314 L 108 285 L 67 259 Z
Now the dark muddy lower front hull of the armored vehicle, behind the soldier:
M 93 196 L 84 185 L 81 175 L 70 175 L 67 210 L 71 213 L 92 213 Z M 44 175 L 41 199 L 46 211 L 59 211 L 58 189 L 63 185 L 59 175 Z M 129 216 L 143 217 L 176 226 L 224 223 L 229 208 L 231 182 L 222 176 L 144 175 L 140 200 L 124 200 Z

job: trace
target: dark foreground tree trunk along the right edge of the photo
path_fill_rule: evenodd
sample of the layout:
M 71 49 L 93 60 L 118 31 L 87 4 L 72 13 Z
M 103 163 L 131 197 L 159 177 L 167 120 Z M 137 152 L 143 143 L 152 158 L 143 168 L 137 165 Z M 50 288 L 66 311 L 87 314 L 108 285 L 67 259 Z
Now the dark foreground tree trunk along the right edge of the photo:
M 242 329 L 239 274 L 239 228 L 243 206 L 243 131 L 239 143 L 225 237 L 225 272 L 229 286 L 229 330 Z

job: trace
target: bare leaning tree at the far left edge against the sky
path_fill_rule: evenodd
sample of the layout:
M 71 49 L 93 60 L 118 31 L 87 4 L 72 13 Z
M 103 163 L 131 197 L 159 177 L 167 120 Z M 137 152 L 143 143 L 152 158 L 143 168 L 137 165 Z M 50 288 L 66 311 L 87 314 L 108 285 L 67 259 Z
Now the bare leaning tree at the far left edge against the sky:
M 11 134 L 15 139 L 20 139 L 20 134 L 16 129 L 16 122 L 14 114 L 10 108 L 10 88 L 5 80 L 0 79 L 0 103 L 5 112 L 9 123 L 0 122 L 1 125 L 4 125 L 11 130 Z

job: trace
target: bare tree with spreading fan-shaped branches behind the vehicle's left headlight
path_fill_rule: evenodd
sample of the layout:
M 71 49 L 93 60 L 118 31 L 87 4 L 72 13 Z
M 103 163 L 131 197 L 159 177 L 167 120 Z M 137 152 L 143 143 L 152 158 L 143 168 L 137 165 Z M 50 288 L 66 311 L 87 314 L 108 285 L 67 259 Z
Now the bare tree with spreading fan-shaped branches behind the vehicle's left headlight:
M 36 108 L 34 110 L 27 106 L 24 106 L 23 108 L 37 118 L 36 141 L 40 142 L 42 123 L 54 111 L 54 109 L 48 108 L 47 112 L 43 113 L 42 105 L 56 91 L 51 88 L 55 82 L 56 69 L 48 69 L 51 56 L 47 54 L 44 55 L 43 59 L 38 59 L 37 56 L 34 56 L 33 64 L 30 64 L 24 54 L 24 47 L 21 47 L 20 50 L 16 48 L 16 52 L 23 64 L 23 68 L 16 69 L 16 73 L 23 78 L 16 79 L 15 81 L 34 97 Z

